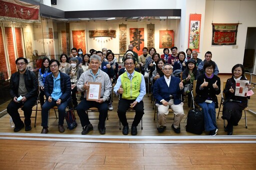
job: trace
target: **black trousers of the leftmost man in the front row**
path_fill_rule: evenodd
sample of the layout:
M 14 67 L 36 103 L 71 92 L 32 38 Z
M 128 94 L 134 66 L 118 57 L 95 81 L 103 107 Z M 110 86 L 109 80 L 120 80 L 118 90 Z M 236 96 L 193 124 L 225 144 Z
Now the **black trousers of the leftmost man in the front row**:
M 23 106 L 21 110 L 24 112 L 25 126 L 30 126 L 31 124 L 30 117 L 32 114 L 32 107 L 34 106 L 35 102 L 36 102 L 36 96 L 27 99 L 24 103 L 22 102 L 15 103 L 13 100 L 10 101 L 10 103 L 7 106 L 7 113 L 11 116 L 11 119 L 15 124 L 15 127 L 21 127 L 23 124 L 18 113 L 18 109 L 21 106 Z

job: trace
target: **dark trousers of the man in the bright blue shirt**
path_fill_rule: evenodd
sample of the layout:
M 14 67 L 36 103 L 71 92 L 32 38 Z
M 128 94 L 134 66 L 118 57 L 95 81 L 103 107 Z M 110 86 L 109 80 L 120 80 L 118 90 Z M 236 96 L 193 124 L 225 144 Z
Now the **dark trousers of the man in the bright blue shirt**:
M 48 102 L 47 100 L 42 106 L 42 112 L 41 112 L 41 117 L 42 117 L 42 127 L 47 127 L 48 126 L 48 112 L 53 106 L 58 107 L 58 125 L 63 125 L 64 124 L 64 118 L 65 118 L 65 110 L 67 107 L 67 104 L 69 103 L 70 99 L 67 101 L 61 101 L 60 105 L 56 104 L 55 100 L 52 100 L 51 102 Z

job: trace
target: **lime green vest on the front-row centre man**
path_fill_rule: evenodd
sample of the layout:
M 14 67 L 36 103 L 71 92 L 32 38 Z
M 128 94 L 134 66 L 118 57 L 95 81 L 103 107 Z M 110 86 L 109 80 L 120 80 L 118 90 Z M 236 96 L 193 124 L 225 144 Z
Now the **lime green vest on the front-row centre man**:
M 122 99 L 134 100 L 139 95 L 140 83 L 141 83 L 141 74 L 134 71 L 132 80 L 130 81 L 127 76 L 127 72 L 120 75 L 121 84 L 123 88 Z

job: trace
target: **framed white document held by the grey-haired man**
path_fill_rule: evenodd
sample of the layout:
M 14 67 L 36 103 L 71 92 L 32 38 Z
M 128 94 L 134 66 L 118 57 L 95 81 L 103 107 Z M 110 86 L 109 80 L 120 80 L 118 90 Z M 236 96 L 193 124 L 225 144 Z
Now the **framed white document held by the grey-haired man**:
M 96 82 L 88 82 L 90 85 L 89 89 L 87 90 L 86 100 L 96 101 L 100 98 L 100 91 L 101 91 L 101 83 Z

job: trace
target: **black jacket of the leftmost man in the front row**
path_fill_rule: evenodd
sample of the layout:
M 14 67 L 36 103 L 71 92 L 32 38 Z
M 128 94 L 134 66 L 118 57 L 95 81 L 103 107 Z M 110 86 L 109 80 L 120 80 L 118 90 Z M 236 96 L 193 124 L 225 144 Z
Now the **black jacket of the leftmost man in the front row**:
M 37 77 L 32 71 L 26 69 L 24 73 L 25 87 L 28 93 L 25 95 L 26 99 L 34 97 L 38 92 L 38 81 Z M 15 72 L 10 76 L 9 92 L 10 97 L 18 97 L 18 84 L 19 84 L 19 72 Z

